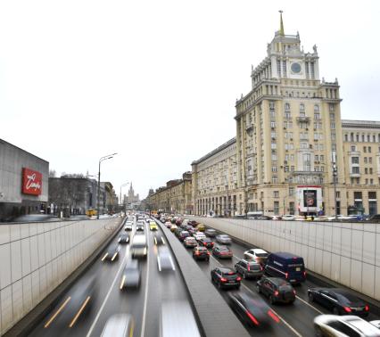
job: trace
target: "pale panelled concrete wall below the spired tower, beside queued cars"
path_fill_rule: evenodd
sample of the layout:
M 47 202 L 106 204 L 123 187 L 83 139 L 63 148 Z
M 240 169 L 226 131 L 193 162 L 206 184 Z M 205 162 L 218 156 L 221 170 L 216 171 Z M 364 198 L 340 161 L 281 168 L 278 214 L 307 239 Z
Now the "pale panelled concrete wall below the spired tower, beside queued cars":
M 266 251 L 302 256 L 309 270 L 380 300 L 380 225 L 195 219 Z

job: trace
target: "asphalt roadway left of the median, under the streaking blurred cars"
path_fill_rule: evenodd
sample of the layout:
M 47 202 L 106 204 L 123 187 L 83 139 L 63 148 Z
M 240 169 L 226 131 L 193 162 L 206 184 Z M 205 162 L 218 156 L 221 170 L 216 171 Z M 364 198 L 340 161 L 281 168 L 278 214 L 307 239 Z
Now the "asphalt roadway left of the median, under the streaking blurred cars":
M 124 232 L 124 228 L 120 233 Z M 133 231 L 136 234 L 136 220 Z M 153 234 L 145 224 L 148 255 L 141 260 L 142 283 L 138 290 L 120 291 L 123 269 L 130 259 L 129 244 L 120 245 L 120 258 L 102 261 L 103 254 L 62 297 L 57 306 L 36 326 L 29 336 L 100 336 L 113 314 L 128 313 L 134 318 L 133 336 L 157 336 L 161 303 L 165 300 L 188 300 L 178 266 L 175 271 L 159 271 Z M 110 243 L 117 244 L 119 234 Z M 95 285 L 92 283 L 95 280 Z

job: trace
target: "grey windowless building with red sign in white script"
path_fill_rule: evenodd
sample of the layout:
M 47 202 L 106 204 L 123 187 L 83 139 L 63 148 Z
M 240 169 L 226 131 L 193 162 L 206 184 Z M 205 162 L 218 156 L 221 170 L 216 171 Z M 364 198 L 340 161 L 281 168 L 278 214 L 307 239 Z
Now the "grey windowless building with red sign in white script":
M 49 163 L 0 139 L 0 221 L 45 213 Z

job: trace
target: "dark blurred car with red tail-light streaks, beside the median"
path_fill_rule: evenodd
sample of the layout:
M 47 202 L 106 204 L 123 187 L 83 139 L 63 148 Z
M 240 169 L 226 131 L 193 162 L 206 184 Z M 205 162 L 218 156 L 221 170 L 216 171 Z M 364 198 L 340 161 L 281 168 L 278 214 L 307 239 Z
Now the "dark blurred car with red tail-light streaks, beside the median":
M 229 306 L 246 325 L 261 326 L 273 321 L 280 322 L 268 304 L 260 299 L 255 299 L 245 292 L 228 292 L 227 296 Z

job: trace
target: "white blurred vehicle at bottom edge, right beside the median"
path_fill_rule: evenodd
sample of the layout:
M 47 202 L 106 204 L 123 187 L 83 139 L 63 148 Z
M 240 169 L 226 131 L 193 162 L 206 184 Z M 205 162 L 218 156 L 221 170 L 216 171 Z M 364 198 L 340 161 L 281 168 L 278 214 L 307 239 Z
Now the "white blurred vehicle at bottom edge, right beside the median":
M 161 304 L 159 337 L 201 337 L 194 313 L 185 300 L 164 300 Z

